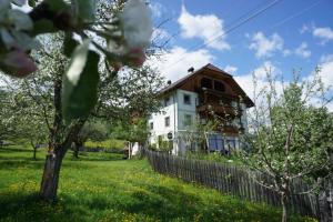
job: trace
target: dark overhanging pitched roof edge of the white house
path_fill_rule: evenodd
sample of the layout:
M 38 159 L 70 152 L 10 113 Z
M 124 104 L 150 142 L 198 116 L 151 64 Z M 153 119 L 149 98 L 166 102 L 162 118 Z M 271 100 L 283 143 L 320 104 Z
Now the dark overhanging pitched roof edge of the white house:
M 167 92 L 172 91 L 173 89 L 176 89 L 179 87 L 181 87 L 188 79 L 192 78 L 195 74 L 201 73 L 203 70 L 212 70 L 215 72 L 219 72 L 225 77 L 228 77 L 228 79 L 230 79 L 232 81 L 232 83 L 238 88 L 238 90 L 241 92 L 242 95 L 244 95 L 244 98 L 246 99 L 246 103 L 249 104 L 249 107 L 253 107 L 254 103 L 252 102 L 252 100 L 246 95 L 246 93 L 243 91 L 243 89 L 238 84 L 238 82 L 233 79 L 233 77 L 231 74 L 229 74 L 228 72 L 225 72 L 224 70 L 219 69 L 218 67 L 208 63 L 206 65 L 200 68 L 199 70 L 191 72 L 189 74 L 186 74 L 185 77 L 179 79 L 178 81 L 167 85 L 165 88 L 163 88 L 162 90 L 160 90 L 158 92 L 159 95 L 164 94 Z

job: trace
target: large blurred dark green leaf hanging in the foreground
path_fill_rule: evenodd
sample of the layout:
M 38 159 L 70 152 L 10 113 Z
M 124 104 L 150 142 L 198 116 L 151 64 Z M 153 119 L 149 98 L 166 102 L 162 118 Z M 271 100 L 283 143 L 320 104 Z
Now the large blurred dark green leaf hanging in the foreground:
M 62 113 L 65 122 L 88 117 L 98 97 L 99 54 L 89 50 L 90 40 L 78 46 L 63 77 Z

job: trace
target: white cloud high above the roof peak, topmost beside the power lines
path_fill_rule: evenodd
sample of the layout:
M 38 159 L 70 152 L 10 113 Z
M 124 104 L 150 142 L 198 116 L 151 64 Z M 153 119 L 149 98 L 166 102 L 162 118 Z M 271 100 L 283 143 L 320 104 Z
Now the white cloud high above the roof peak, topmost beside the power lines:
M 223 20 L 215 14 L 196 14 L 193 16 L 188 12 L 184 6 L 182 6 L 181 14 L 178 19 L 181 28 L 181 36 L 183 38 L 199 38 L 202 39 L 208 47 L 216 50 L 229 50 L 230 44 L 225 41 Z M 211 41 L 212 38 L 216 38 L 215 41 Z

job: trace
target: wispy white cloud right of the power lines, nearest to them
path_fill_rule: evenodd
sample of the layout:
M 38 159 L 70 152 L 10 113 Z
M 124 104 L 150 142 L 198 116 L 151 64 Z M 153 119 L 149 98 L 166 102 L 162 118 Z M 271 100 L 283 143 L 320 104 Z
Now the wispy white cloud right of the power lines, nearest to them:
M 271 57 L 274 52 L 284 50 L 283 39 L 278 33 L 265 37 L 263 32 L 256 32 L 250 38 L 252 42 L 249 48 L 256 51 L 258 58 Z

